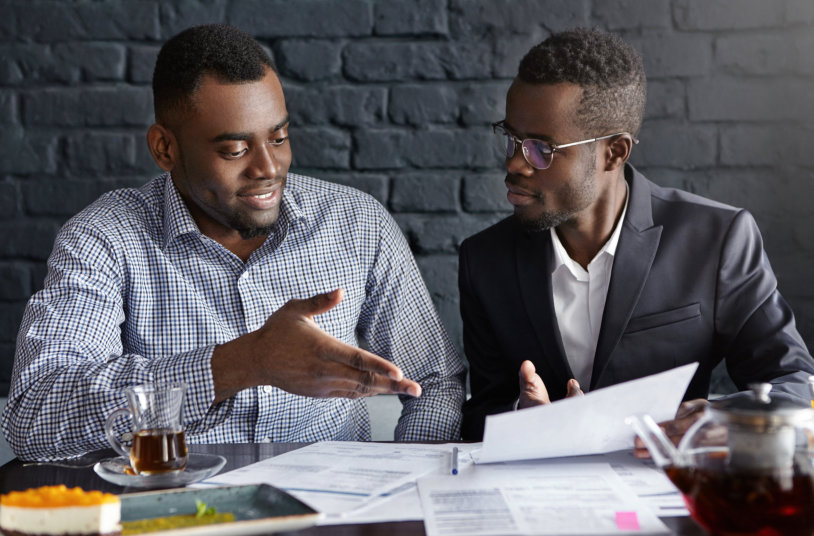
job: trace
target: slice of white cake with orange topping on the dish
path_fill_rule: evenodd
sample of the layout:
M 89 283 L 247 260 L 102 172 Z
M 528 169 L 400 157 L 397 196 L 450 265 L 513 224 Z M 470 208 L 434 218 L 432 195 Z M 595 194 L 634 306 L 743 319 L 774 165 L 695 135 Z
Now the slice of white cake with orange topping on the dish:
M 121 501 L 65 486 L 12 491 L 0 495 L 0 530 L 7 536 L 120 535 Z

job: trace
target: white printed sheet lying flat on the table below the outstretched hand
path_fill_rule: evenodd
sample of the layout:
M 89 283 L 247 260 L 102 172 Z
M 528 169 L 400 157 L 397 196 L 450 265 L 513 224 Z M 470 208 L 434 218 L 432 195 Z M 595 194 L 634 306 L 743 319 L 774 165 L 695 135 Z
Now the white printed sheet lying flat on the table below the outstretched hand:
M 201 486 L 271 484 L 327 515 L 322 524 L 423 519 L 416 479 L 459 469 L 480 444 L 323 441 L 217 475 Z

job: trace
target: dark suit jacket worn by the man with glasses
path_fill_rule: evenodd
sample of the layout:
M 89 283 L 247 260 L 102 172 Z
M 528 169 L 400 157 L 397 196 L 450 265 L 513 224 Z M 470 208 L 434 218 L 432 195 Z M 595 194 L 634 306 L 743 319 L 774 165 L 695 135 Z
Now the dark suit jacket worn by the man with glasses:
M 590 390 L 699 363 L 685 399 L 706 398 L 726 359 L 739 389 L 771 381 L 808 399 L 814 374 L 752 216 L 661 188 L 632 166 L 627 214 L 613 261 Z M 573 377 L 551 291 L 546 232 L 513 218 L 461 245 L 458 284 L 472 397 L 462 435 L 479 440 L 486 415 L 511 409 L 520 363 L 530 359 L 552 400 Z M 584 386 L 583 386 L 584 388 Z M 646 410 L 647 408 L 642 408 Z

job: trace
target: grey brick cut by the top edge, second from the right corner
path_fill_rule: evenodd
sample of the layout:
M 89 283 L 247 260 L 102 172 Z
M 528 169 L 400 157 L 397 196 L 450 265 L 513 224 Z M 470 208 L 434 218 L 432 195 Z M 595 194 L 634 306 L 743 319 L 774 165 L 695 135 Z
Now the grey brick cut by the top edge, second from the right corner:
M 675 0 L 673 18 L 682 30 L 771 28 L 783 23 L 784 10 L 766 0 Z

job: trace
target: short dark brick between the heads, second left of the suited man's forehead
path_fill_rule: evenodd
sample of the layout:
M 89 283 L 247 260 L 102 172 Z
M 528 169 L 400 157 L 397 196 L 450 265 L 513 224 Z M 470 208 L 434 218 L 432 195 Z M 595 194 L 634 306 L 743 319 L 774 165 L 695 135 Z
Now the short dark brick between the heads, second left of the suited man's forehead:
M 452 123 L 458 118 L 458 93 L 448 85 L 398 85 L 390 90 L 390 120 L 397 125 Z

